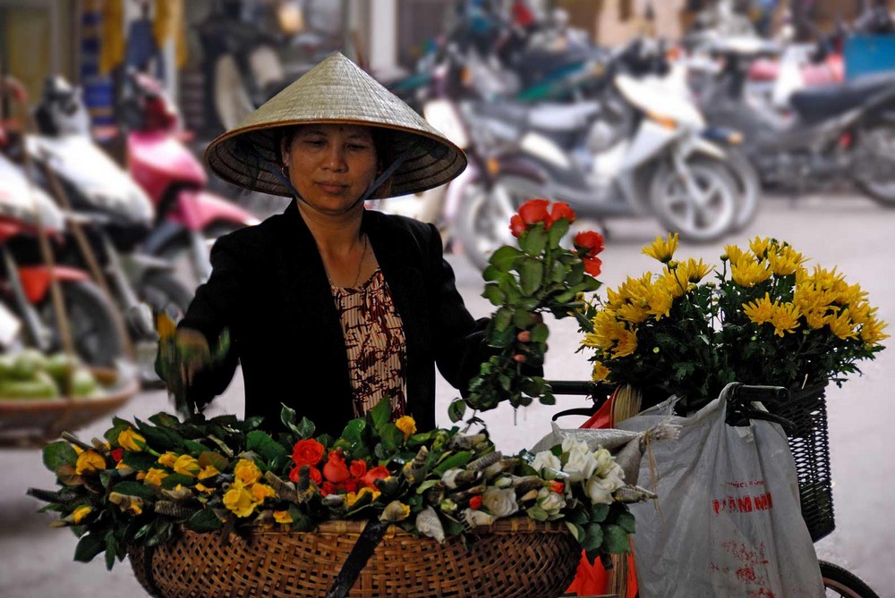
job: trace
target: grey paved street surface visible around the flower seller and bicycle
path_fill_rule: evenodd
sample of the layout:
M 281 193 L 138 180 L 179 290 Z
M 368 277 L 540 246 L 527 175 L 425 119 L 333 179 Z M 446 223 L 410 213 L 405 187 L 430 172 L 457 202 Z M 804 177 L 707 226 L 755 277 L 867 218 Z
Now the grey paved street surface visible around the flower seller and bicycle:
M 655 271 L 655 263 L 640 255 L 640 248 L 661 231 L 650 222 L 618 223 L 610 228 L 601 281 L 615 286 L 628 274 Z M 895 334 L 895 265 L 892 233 L 895 210 L 885 210 L 865 198 L 831 196 L 805 198 L 795 206 L 788 200 L 768 198 L 758 219 L 745 232 L 727 242 L 744 243 L 755 235 L 788 240 L 814 263 L 838 265 L 849 282 L 859 282 L 879 316 L 892 323 Z M 718 264 L 720 246 L 689 247 L 679 257 L 703 257 Z M 490 306 L 478 294 L 481 277 L 462 256 L 451 256 L 461 291 L 473 315 L 485 316 Z M 583 379 L 589 367 L 584 355 L 574 353 L 578 342 L 575 324 L 551 324 L 546 375 L 556 379 Z M 888 341 L 895 345 L 895 340 Z M 817 544 L 821 558 L 832 560 L 863 577 L 881 596 L 895 595 L 895 520 L 889 507 L 895 493 L 895 459 L 891 457 L 893 424 L 889 400 L 895 400 L 895 348 L 883 351 L 841 389 L 828 392 L 832 470 L 837 529 Z M 455 396 L 439 383 L 439 424 L 447 425 L 447 402 Z M 242 415 L 242 383 L 234 381 L 214 409 Z M 561 398 L 555 407 L 533 406 L 514 413 L 499 408 L 484 414 L 492 437 L 505 452 L 531 446 L 550 430 L 550 416 L 558 409 L 584 406 L 583 399 Z M 122 417 L 147 417 L 168 408 L 161 392 L 144 393 L 121 409 Z M 564 418 L 574 427 L 580 417 Z M 100 435 L 100 422 L 79 435 Z M 29 486 L 49 488 L 52 475 L 41 465 L 38 451 L 0 451 L 0 597 L 2 598 L 121 598 L 145 595 L 127 562 L 108 573 L 102 559 L 84 565 L 72 562 L 76 538 L 66 530 L 51 529 L 50 515 L 35 511 L 40 503 L 25 495 Z

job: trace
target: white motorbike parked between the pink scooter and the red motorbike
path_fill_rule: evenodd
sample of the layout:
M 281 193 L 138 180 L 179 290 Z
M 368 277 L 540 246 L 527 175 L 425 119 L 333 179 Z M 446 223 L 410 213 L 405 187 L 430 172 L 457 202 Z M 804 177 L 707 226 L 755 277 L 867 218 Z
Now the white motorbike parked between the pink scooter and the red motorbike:
M 158 383 L 157 338 L 146 306 L 176 320 L 189 306 L 192 291 L 175 277 L 169 263 L 141 251 L 155 210 L 146 193 L 87 132 L 74 131 L 72 122 L 80 122 L 84 110 L 79 89 L 60 77 L 47 80 L 35 110 L 38 134 L 26 137 L 25 149 L 41 166 L 46 189 L 70 208 L 72 231 L 84 233 L 83 244 L 69 242 L 60 248 L 60 263 L 90 266 L 96 258 L 93 274 L 126 316 L 141 380 Z M 79 240 L 78 235 L 72 239 Z

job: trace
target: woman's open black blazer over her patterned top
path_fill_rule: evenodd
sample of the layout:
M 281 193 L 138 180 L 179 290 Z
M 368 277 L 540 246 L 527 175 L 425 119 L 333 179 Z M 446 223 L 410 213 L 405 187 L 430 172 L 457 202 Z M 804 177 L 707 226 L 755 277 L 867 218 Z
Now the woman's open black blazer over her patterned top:
M 421 430 L 435 427 L 435 368 L 465 392 L 488 356 L 487 320 L 476 322 L 456 291 L 438 230 L 367 210 L 370 239 L 401 316 L 407 342 L 407 406 Z M 243 366 L 245 415 L 277 429 L 280 403 L 337 435 L 354 417 L 348 362 L 336 304 L 317 246 L 293 200 L 257 226 L 227 234 L 211 250 L 213 271 L 196 291 L 181 326 L 209 342 L 225 327 L 231 349 L 222 366 L 197 376 L 202 405 L 224 392 Z

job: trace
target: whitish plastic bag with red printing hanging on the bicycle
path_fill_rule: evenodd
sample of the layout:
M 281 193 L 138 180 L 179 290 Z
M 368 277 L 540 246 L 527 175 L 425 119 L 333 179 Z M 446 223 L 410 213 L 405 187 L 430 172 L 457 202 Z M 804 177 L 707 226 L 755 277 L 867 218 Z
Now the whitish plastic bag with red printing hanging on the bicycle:
M 695 415 L 673 417 L 677 441 L 644 451 L 638 484 L 659 499 L 658 508 L 653 501 L 631 505 L 640 595 L 823 596 L 786 434 L 765 421 L 726 425 L 729 389 Z M 663 407 L 618 427 L 651 428 L 667 419 Z

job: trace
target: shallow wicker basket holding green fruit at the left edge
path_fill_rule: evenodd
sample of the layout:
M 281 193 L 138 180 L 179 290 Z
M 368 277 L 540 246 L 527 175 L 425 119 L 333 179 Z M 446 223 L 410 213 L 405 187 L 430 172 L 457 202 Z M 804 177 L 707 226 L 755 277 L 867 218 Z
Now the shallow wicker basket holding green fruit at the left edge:
M 106 392 L 85 399 L 0 400 L 0 447 L 37 448 L 114 413 L 140 391 L 136 377 L 119 380 L 114 369 L 91 367 Z

